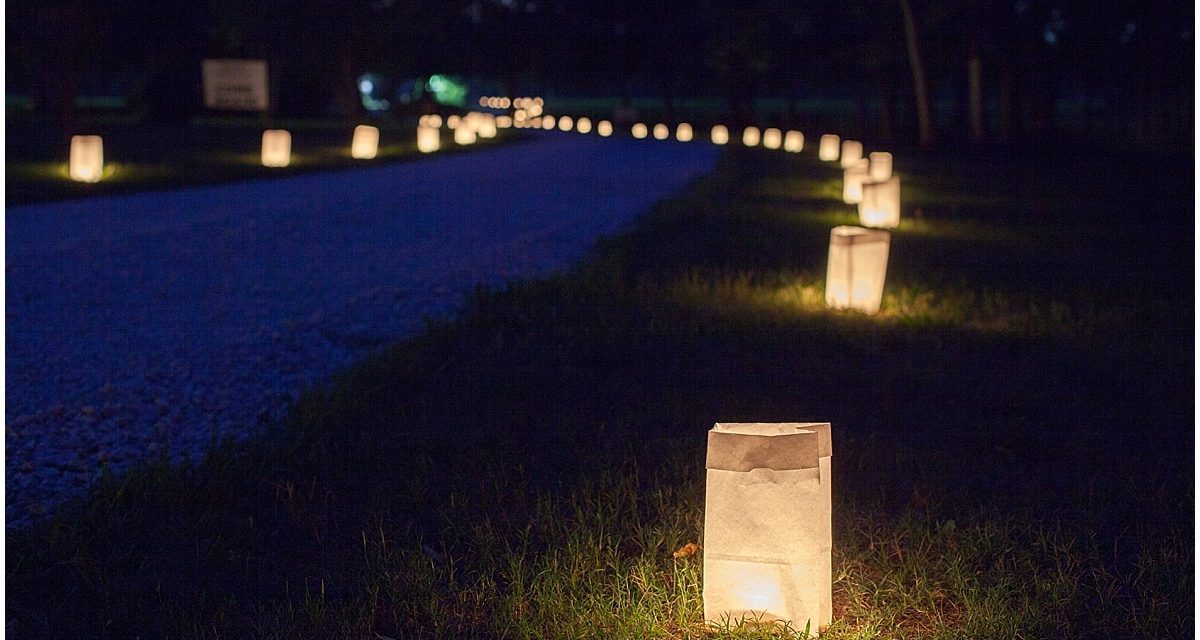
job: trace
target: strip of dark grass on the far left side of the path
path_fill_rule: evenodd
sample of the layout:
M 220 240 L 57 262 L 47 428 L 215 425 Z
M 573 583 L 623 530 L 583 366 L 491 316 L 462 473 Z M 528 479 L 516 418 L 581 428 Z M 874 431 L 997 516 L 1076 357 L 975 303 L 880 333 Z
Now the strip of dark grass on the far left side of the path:
M 188 125 L 145 125 L 131 119 L 84 119 L 80 133 L 104 140 L 104 178 L 76 183 L 67 174 L 70 138 L 53 133 L 47 122 L 30 115 L 10 116 L 5 158 L 5 202 L 8 205 L 260 180 L 314 171 L 378 166 L 419 157 L 414 126 L 376 124 L 379 152 L 373 160 L 350 157 L 354 124 L 320 120 L 254 118 L 196 119 Z M 262 137 L 265 128 L 292 133 L 292 162 L 264 167 Z M 496 138 L 470 146 L 454 143 L 454 131 L 442 130 L 438 154 L 461 152 L 512 140 L 520 133 L 502 130 Z M 60 139 L 61 138 L 61 139 Z

